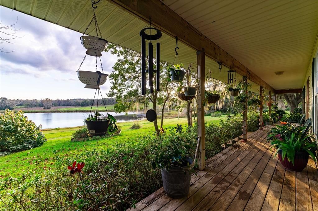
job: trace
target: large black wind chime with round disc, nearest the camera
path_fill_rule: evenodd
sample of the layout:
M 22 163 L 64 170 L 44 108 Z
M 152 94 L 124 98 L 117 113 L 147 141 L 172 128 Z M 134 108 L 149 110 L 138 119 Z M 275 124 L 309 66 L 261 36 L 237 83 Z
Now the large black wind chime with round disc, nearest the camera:
M 148 86 L 150 89 L 150 94 L 153 93 L 154 88 L 153 88 L 153 73 L 155 72 L 157 77 L 156 77 L 156 89 L 157 91 L 160 90 L 160 43 L 157 42 L 156 44 L 156 70 L 153 69 L 154 61 L 153 61 L 153 45 L 152 45 L 152 40 L 158 40 L 162 36 L 162 33 L 160 30 L 156 28 L 151 27 L 151 21 L 149 21 L 150 27 L 149 28 L 144 28 L 140 31 L 139 35 L 141 36 L 141 76 L 142 76 L 142 82 L 141 82 L 141 94 L 143 96 L 146 95 L 146 72 L 148 72 Z M 149 31 L 149 34 L 146 34 L 146 30 Z M 152 31 L 155 31 L 156 34 L 152 34 Z M 146 40 L 149 40 L 148 43 L 148 70 L 146 70 Z M 149 122 L 153 122 L 157 118 L 156 111 L 153 109 L 149 109 L 146 113 L 146 118 Z

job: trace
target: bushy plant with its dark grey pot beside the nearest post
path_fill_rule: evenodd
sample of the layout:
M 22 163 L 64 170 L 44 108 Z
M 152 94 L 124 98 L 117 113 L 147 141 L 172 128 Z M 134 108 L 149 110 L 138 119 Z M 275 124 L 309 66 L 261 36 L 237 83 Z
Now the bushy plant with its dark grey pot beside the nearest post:
M 151 148 L 154 155 L 152 167 L 160 168 L 163 188 L 166 194 L 172 198 L 183 198 L 188 195 L 190 189 L 191 172 L 194 162 L 189 157 L 194 145 L 181 136 L 182 127 L 177 125 L 175 135 L 164 135 L 166 144 L 155 142 Z

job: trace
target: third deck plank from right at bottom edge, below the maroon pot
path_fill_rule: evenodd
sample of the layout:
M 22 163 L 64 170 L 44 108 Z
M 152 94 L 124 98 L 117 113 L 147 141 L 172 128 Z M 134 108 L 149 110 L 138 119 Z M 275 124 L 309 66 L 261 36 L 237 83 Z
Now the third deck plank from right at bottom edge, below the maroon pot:
M 279 211 L 296 210 L 296 172 L 286 169 Z

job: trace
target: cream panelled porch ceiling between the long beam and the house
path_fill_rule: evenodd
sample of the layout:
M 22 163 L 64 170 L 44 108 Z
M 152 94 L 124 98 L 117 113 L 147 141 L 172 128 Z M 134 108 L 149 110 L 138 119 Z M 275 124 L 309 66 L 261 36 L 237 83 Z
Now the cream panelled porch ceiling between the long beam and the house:
M 318 1 L 163 2 L 274 89 L 302 87 L 318 33 Z

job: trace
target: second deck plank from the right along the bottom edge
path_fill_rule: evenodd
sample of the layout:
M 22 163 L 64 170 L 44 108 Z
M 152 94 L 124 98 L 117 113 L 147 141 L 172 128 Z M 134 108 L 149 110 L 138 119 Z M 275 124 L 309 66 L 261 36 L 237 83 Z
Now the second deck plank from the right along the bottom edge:
M 296 173 L 296 211 L 313 210 L 307 167 Z

